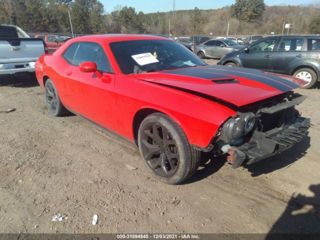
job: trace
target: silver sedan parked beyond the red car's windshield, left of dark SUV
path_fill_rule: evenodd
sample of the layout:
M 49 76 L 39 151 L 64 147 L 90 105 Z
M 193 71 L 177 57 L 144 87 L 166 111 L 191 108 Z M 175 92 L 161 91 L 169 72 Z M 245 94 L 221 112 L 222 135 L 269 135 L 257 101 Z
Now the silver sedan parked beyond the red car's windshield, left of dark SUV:
M 200 57 L 221 58 L 225 54 L 243 48 L 243 45 L 228 39 L 212 39 L 194 47 L 194 52 Z

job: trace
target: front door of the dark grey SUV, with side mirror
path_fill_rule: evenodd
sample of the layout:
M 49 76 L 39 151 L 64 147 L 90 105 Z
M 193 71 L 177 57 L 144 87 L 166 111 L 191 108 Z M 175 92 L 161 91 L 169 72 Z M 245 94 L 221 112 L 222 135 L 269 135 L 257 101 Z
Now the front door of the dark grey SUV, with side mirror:
M 241 52 L 243 67 L 255 68 L 264 71 L 271 69 L 272 51 L 276 46 L 277 37 L 266 38 L 244 48 Z

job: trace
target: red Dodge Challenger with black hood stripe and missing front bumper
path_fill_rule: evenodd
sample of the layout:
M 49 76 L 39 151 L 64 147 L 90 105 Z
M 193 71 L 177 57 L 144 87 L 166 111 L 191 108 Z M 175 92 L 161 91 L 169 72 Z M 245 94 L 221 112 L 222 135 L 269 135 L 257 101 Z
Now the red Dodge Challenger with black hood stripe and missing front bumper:
M 309 127 L 294 108 L 303 80 L 207 65 L 159 36 L 76 37 L 40 56 L 35 70 L 54 116 L 70 111 L 135 142 L 169 184 L 190 177 L 202 151 L 235 168 L 291 147 Z

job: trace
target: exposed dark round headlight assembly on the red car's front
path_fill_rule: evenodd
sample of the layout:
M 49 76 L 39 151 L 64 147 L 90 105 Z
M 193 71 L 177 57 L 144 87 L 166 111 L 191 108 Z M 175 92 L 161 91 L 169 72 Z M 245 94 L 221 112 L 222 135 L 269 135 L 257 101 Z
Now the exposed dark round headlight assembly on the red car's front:
M 240 113 L 236 117 L 228 119 L 223 124 L 220 139 L 225 143 L 232 142 L 251 131 L 254 123 L 254 113 Z

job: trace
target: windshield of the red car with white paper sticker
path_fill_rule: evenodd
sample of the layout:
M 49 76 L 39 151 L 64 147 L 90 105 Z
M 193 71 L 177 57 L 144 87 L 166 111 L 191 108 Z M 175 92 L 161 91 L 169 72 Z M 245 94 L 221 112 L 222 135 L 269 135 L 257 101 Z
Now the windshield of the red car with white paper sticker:
M 123 74 L 206 65 L 183 45 L 171 40 L 131 40 L 110 43 Z

